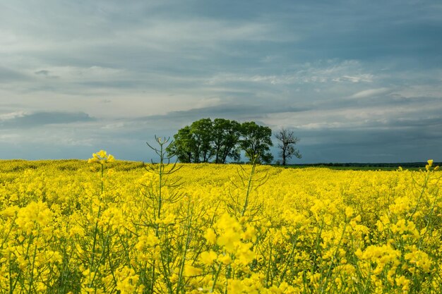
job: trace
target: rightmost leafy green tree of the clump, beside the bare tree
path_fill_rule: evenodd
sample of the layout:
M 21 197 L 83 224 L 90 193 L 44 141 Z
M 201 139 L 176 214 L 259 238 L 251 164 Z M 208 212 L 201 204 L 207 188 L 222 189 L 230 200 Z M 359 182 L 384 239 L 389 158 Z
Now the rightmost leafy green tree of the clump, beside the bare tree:
M 246 157 L 256 162 L 269 164 L 273 160 L 270 153 L 272 142 L 272 130 L 263 125 L 257 125 L 254 121 L 246 121 L 241 124 L 241 140 L 239 144 L 241 149 L 246 152 Z

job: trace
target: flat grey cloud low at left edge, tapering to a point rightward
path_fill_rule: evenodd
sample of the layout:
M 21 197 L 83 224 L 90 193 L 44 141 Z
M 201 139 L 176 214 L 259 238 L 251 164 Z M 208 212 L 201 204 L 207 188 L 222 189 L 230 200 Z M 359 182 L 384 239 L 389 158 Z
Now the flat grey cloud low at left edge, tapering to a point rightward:
M 0 128 L 35 128 L 43 125 L 78 123 L 95 121 L 84 112 L 49 112 L 27 113 L 18 111 L 0 115 Z

